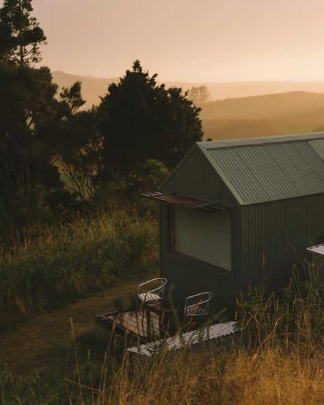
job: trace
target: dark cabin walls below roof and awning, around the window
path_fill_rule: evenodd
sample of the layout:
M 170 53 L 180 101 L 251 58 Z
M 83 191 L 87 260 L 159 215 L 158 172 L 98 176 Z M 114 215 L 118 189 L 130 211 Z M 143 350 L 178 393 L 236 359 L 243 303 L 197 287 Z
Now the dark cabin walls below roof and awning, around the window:
M 288 285 L 293 267 L 303 275 L 306 248 L 324 241 L 324 194 L 235 208 L 231 274 L 207 271 L 168 250 L 167 206 L 161 209 L 161 273 L 176 285 L 178 304 L 200 291 L 246 291 Z

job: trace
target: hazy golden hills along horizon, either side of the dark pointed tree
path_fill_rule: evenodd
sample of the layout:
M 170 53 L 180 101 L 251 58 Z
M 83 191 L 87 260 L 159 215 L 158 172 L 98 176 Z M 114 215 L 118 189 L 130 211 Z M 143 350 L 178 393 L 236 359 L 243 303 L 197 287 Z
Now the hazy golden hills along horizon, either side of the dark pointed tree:
M 118 78 L 100 79 L 53 72 L 53 80 L 60 87 L 81 81 L 83 97 L 87 101 L 85 107 L 90 107 L 99 103 L 99 96 L 103 96 L 109 84 L 117 82 Z M 200 116 L 204 139 L 248 138 L 324 129 L 324 94 L 321 94 L 324 93 L 324 81 L 164 83 L 167 87 L 177 86 L 184 90 L 204 85 L 211 99 L 219 99 L 202 105 Z

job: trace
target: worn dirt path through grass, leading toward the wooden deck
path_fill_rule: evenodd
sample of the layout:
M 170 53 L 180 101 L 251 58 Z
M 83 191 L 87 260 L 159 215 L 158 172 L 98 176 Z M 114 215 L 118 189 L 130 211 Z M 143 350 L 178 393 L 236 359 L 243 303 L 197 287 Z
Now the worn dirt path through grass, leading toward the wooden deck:
M 55 348 L 56 351 L 59 347 L 66 350 L 70 341 L 70 318 L 75 325 L 76 335 L 93 330 L 97 327 L 94 324 L 95 315 L 109 312 L 113 307 L 113 297 L 129 297 L 136 291 L 140 281 L 120 283 L 100 296 L 37 315 L 21 328 L 1 336 L 0 368 L 5 367 L 14 374 L 26 374 L 33 369 L 55 367 Z

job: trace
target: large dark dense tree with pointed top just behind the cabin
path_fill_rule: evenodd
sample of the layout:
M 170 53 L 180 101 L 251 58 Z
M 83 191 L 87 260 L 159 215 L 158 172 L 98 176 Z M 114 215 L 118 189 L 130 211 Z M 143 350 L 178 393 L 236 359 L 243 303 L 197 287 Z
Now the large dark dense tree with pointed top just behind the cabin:
M 168 168 L 202 139 L 200 109 L 180 88 L 157 86 L 137 60 L 119 83 L 112 83 L 98 108 L 105 175 L 133 172 L 146 159 Z

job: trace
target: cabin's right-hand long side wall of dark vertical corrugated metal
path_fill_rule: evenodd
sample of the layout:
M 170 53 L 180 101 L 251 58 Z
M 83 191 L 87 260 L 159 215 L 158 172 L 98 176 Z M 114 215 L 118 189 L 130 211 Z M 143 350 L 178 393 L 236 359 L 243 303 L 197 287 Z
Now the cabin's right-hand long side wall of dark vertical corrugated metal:
M 241 209 L 241 271 L 247 283 L 262 285 L 267 280 L 270 290 L 287 285 L 294 264 L 303 271 L 306 248 L 323 241 L 324 194 Z

